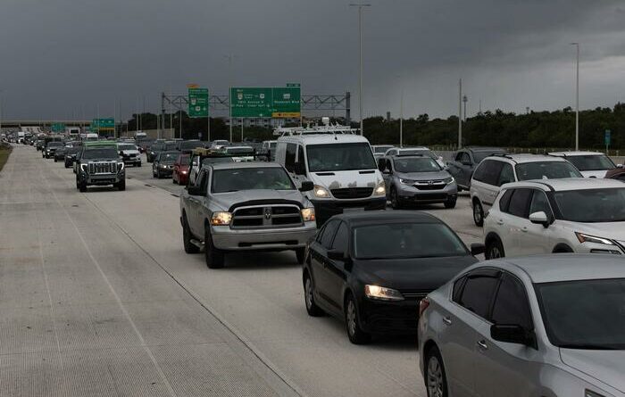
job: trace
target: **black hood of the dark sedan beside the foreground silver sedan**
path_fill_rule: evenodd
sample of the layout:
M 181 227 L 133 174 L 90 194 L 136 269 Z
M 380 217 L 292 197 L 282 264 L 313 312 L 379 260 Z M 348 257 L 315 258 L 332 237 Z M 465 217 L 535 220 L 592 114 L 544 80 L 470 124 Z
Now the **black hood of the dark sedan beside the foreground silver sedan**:
M 363 281 L 398 290 L 429 292 L 446 284 L 462 269 L 477 263 L 471 255 L 442 258 L 413 258 L 396 260 L 357 260 Z

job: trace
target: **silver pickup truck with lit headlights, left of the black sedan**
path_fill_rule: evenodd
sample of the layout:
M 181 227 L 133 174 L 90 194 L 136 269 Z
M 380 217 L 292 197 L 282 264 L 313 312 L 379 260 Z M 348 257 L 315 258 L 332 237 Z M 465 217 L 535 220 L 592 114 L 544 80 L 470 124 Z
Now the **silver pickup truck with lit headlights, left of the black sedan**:
M 185 252 L 204 249 L 206 265 L 219 269 L 232 251 L 296 252 L 316 232 L 314 208 L 282 166 L 269 162 L 228 162 L 204 166 L 196 183 L 180 194 Z

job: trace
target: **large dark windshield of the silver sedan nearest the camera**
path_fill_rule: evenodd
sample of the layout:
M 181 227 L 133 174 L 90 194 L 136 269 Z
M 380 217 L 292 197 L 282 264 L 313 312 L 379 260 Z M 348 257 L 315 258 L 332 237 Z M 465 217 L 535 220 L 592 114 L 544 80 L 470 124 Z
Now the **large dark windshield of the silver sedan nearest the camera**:
M 536 292 L 555 346 L 625 350 L 625 278 L 538 284 Z

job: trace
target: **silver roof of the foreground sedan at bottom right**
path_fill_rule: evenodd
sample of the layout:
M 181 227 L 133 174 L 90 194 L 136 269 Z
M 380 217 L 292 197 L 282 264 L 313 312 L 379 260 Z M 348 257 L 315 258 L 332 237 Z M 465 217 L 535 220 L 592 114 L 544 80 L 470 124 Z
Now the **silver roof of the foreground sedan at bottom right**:
M 625 278 L 625 259 L 602 253 L 556 253 L 481 262 L 512 272 L 523 271 L 532 283 Z

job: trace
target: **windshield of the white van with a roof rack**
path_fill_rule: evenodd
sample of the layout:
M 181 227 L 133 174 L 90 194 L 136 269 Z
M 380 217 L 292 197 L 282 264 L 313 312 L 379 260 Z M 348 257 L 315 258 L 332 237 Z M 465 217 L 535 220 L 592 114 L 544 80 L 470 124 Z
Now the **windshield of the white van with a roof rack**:
M 306 151 L 311 172 L 376 169 L 371 146 L 365 142 L 308 145 Z

